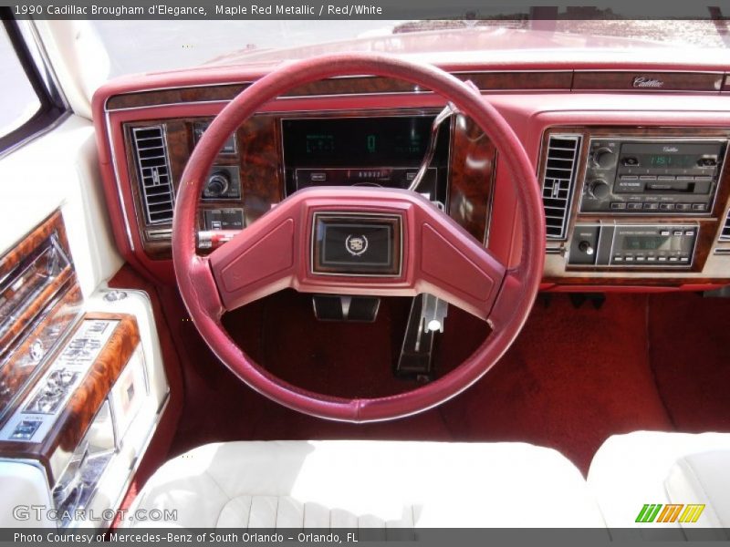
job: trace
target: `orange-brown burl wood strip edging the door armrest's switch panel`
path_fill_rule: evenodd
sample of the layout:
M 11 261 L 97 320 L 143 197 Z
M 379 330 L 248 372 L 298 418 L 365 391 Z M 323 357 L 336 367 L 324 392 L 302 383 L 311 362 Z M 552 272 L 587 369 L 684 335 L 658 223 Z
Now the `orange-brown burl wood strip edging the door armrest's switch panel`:
M 140 331 L 133 315 L 91 313 L 84 315 L 84 319 L 110 319 L 120 323 L 66 407 L 61 410 L 46 439 L 42 443 L 0 441 L 0 457 L 40 461 L 47 470 L 51 484 L 57 480 L 57 477 L 53 477 L 51 457 L 57 449 L 69 453 L 76 449 L 91 420 L 140 343 Z

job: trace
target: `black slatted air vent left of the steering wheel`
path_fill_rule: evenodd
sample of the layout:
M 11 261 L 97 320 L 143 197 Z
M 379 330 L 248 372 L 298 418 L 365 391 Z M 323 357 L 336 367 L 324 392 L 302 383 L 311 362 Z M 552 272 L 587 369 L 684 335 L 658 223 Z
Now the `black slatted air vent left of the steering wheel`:
M 163 126 L 132 129 L 144 213 L 148 224 L 172 222 L 174 193 Z

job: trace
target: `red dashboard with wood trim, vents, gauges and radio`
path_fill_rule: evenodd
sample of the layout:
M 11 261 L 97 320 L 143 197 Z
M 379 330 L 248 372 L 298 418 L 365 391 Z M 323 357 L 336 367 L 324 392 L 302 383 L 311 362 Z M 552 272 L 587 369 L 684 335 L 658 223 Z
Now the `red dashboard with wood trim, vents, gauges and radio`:
M 721 67 L 585 63 L 444 66 L 505 116 L 533 161 L 547 233 L 544 290 L 699 290 L 730 283 L 730 85 Z M 174 200 L 211 119 L 266 69 L 205 68 L 111 82 L 94 98 L 121 252 L 173 283 Z M 652 81 L 652 86 L 636 83 Z M 505 263 L 519 256 L 510 173 L 443 99 L 386 77 L 291 90 L 235 130 L 198 212 L 206 253 L 310 186 L 409 188 Z M 495 230 L 499 226 L 500 230 Z M 499 237 L 493 237 L 499 233 Z M 506 234 L 506 235 L 503 235 Z

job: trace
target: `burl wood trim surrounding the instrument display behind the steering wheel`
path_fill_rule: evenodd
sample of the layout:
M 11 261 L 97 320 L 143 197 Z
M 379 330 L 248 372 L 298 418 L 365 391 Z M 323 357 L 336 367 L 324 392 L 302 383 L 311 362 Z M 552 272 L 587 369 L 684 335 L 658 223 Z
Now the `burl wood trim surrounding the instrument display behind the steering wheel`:
M 372 116 L 411 116 L 436 111 L 424 108 L 392 108 L 372 111 Z M 203 209 L 243 208 L 245 224 L 255 222 L 273 205 L 283 200 L 284 171 L 281 150 L 281 119 L 311 117 L 307 112 L 259 114 L 246 120 L 236 131 L 238 154 L 221 155 L 216 165 L 235 165 L 241 177 L 240 201 L 205 201 L 199 208 L 198 227 L 203 229 Z M 337 112 L 318 114 L 318 118 L 352 118 L 363 116 L 363 111 L 343 109 Z M 131 129 L 165 124 L 168 155 L 171 161 L 172 183 L 175 191 L 193 150 L 193 123 L 206 121 L 211 117 L 185 117 L 179 119 L 145 119 L 123 124 L 124 150 L 127 150 L 126 169 L 130 175 L 129 185 L 134 206 L 136 227 L 140 233 L 144 253 L 153 261 L 168 261 L 171 258 L 169 239 L 151 238 L 149 231 L 169 230 L 172 224 L 150 226 L 145 222 L 140 195 L 140 184 L 132 154 Z M 449 155 L 450 177 L 449 214 L 456 222 L 480 241 L 485 241 L 489 206 L 495 173 L 495 147 L 485 135 L 474 129 L 474 124 L 462 119 L 454 124 Z M 204 251 L 201 251 L 204 253 Z

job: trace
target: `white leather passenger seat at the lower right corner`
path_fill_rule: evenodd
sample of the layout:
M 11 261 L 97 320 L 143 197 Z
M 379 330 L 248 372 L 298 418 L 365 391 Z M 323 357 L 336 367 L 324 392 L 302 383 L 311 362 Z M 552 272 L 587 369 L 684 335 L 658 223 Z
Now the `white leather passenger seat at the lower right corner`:
M 610 437 L 593 457 L 588 483 L 606 523 L 620 535 L 671 537 L 667 532 L 674 531 L 678 538 L 728 539 L 730 433 L 637 431 Z M 645 504 L 662 504 L 653 522 L 637 522 Z M 667 504 L 683 505 L 674 511 L 676 519 L 669 511 L 662 519 Z M 690 504 L 705 507 L 696 522 L 680 522 Z M 660 522 L 667 517 L 669 522 Z

